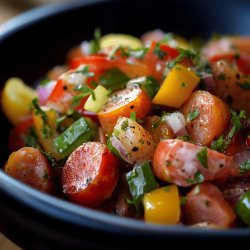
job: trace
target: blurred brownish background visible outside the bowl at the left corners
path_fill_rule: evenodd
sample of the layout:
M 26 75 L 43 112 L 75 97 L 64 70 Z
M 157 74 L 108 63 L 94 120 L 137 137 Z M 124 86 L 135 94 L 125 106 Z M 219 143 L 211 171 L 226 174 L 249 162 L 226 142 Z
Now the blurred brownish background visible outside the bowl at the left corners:
M 20 13 L 39 5 L 65 2 L 67 0 L 0 0 L 0 25 Z M 70 0 L 68 0 L 70 1 Z M 21 250 L 0 233 L 1 250 Z

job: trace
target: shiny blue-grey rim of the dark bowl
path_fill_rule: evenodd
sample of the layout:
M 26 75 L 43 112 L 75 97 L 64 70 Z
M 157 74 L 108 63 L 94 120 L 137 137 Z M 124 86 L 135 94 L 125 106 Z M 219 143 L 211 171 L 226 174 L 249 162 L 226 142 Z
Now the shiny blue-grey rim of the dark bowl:
M 111 0 L 114 1 L 114 0 Z M 0 46 L 1 42 L 23 29 L 26 29 L 31 24 L 42 22 L 48 17 L 53 17 L 65 12 L 74 11 L 77 8 L 86 7 L 108 0 L 85 0 L 71 1 L 64 3 L 49 4 L 42 7 L 29 10 L 21 15 L 16 16 L 10 21 L 0 26 Z M 248 228 L 233 228 L 233 229 L 204 229 L 196 227 L 188 227 L 183 225 L 156 225 L 147 224 L 144 221 L 119 217 L 102 211 L 97 211 L 87 207 L 82 207 L 73 204 L 67 200 L 63 200 L 46 193 L 35 190 L 11 176 L 8 176 L 0 169 L 0 189 L 8 196 L 18 200 L 22 204 L 35 207 L 41 214 L 52 216 L 62 221 L 73 223 L 78 226 L 99 229 L 101 231 L 126 234 L 133 236 L 171 236 L 171 237 L 249 237 L 250 230 Z M 115 228 L 115 230 L 114 230 Z

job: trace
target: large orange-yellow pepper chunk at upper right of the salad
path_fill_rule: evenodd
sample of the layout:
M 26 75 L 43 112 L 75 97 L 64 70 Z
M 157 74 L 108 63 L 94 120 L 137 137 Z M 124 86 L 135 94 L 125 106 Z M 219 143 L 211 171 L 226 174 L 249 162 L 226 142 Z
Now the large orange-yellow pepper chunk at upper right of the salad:
M 199 81 L 200 78 L 194 72 L 176 64 L 168 73 L 152 102 L 179 108 L 189 98 Z

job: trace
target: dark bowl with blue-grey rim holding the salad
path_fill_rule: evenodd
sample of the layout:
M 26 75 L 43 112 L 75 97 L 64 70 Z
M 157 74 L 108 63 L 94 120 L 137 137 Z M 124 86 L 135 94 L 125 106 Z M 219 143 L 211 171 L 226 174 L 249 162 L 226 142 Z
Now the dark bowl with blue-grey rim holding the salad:
M 161 28 L 184 37 L 249 34 L 248 0 L 77 1 L 27 12 L 0 27 L 0 84 L 12 76 L 33 84 L 83 39 L 102 32 L 141 35 Z M 0 113 L 0 161 L 7 159 L 9 123 Z M 25 249 L 126 249 L 170 240 L 238 239 L 250 230 L 200 230 L 149 225 L 43 194 L 0 170 L 0 229 Z M 210 241 L 211 242 L 211 241 Z

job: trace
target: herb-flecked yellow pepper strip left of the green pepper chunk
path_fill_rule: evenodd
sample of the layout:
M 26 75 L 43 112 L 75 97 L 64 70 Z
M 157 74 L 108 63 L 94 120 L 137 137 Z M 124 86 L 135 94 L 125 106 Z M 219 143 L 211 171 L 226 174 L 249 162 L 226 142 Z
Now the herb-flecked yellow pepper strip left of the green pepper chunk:
M 49 109 L 47 107 L 42 107 L 42 110 L 47 116 L 47 124 L 44 123 L 41 114 L 36 113 L 36 111 L 32 112 L 32 118 L 38 140 L 45 152 L 50 153 L 51 156 L 56 160 L 60 160 L 62 159 L 62 156 L 59 154 L 53 144 L 54 138 L 58 136 L 56 131 L 56 119 L 58 118 L 58 115 L 55 110 Z M 49 131 L 47 131 L 48 133 L 45 134 L 44 126 L 46 125 L 48 126 Z

